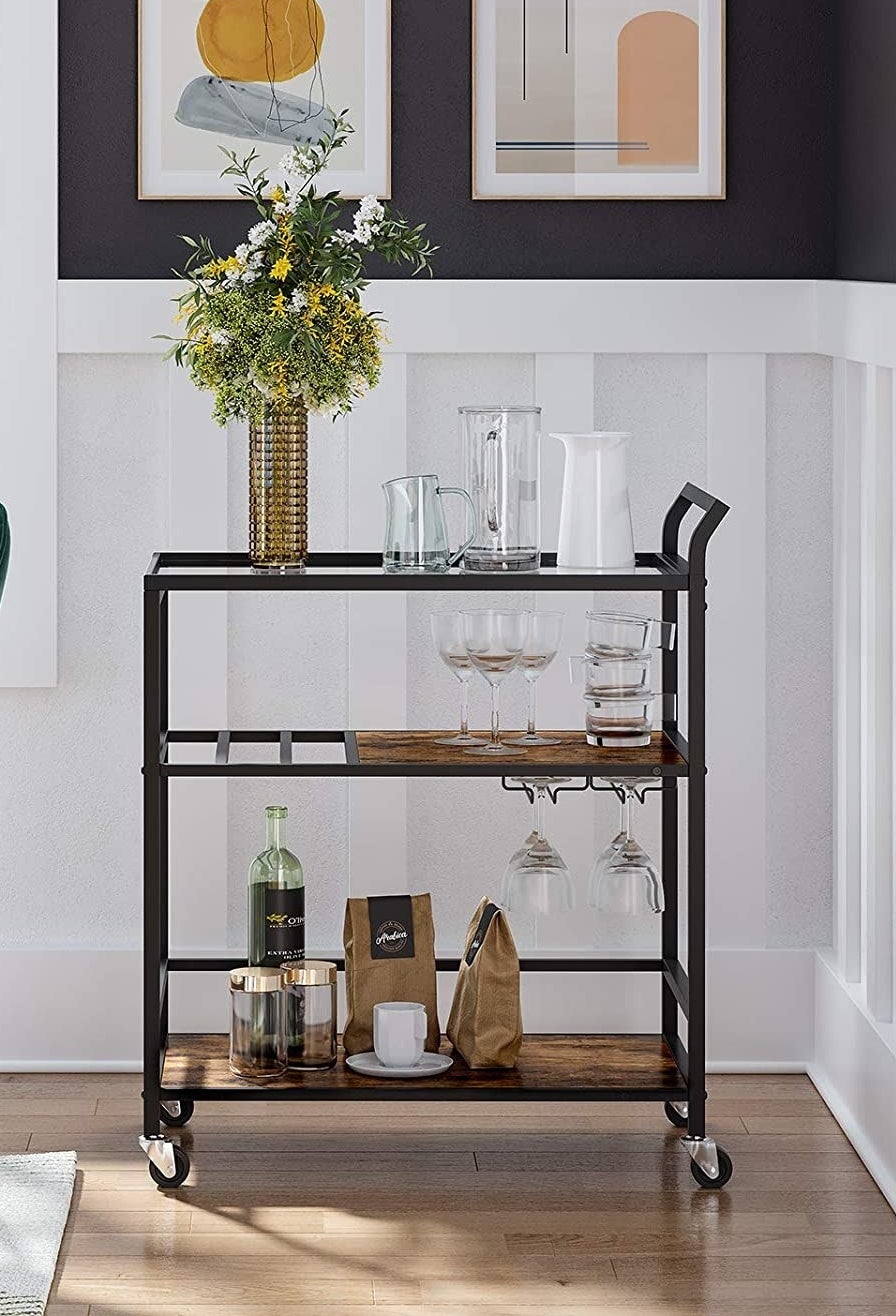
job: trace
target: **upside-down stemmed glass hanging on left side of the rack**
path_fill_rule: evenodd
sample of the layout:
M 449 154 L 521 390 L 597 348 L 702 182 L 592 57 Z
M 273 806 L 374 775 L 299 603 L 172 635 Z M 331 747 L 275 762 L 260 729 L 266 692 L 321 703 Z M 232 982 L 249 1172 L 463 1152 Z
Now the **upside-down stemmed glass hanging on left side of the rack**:
M 538 916 L 568 913 L 575 907 L 575 887 L 563 858 L 545 836 L 545 796 L 551 784 L 568 776 L 514 776 L 533 792 L 532 832 L 504 870 L 501 904 L 525 920 L 525 942 L 535 945 Z

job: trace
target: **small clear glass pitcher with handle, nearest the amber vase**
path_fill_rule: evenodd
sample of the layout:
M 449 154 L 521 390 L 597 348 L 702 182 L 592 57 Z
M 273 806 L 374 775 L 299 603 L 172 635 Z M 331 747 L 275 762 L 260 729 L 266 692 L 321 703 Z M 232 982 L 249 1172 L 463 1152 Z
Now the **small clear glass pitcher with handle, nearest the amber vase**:
M 472 542 L 474 505 L 466 490 L 439 486 L 438 475 L 408 475 L 387 480 L 386 540 L 383 569 L 399 571 L 447 571 L 459 562 Z M 457 551 L 451 551 L 443 494 L 457 494 L 467 503 L 470 536 Z

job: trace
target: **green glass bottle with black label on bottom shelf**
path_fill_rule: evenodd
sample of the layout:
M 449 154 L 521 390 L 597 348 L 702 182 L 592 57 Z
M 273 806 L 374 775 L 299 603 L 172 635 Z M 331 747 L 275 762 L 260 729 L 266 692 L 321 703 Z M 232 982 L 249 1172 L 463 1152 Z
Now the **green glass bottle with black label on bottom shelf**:
M 284 842 L 288 811 L 268 805 L 267 846 L 249 869 L 249 963 L 305 958 L 305 875 Z

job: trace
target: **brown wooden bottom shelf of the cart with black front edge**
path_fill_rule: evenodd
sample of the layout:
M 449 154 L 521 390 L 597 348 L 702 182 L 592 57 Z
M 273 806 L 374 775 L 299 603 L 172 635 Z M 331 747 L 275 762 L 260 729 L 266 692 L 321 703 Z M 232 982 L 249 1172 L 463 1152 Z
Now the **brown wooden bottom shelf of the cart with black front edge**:
M 442 1050 L 450 1053 L 447 1042 Z M 516 1069 L 470 1070 L 457 1057 L 434 1079 L 372 1079 L 346 1067 L 289 1073 L 267 1083 L 237 1078 L 224 1033 L 168 1038 L 163 1096 L 193 1100 L 680 1100 L 687 1087 L 671 1050 L 653 1034 L 541 1036 L 524 1040 Z

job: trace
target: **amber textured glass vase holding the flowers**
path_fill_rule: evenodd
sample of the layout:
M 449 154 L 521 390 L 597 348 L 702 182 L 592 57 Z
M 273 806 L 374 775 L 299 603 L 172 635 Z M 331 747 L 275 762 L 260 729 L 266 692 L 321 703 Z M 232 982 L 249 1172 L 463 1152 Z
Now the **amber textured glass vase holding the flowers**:
M 268 407 L 249 429 L 249 558 L 301 567 L 308 555 L 308 411 Z

